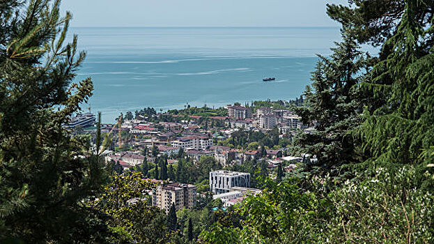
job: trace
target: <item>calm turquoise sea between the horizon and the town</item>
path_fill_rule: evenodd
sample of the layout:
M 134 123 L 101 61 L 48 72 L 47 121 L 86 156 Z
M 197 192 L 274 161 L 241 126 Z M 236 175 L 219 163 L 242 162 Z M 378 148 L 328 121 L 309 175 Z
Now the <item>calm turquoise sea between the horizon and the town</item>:
M 337 28 L 72 28 L 88 56 L 92 112 L 222 106 L 300 96 Z M 263 77 L 276 77 L 263 82 Z M 83 107 L 87 107 L 84 105 Z

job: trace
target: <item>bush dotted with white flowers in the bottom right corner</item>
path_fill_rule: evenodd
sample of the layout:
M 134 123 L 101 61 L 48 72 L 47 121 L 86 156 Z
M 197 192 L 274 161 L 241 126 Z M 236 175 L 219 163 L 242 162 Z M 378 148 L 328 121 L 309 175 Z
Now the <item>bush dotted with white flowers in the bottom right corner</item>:
M 330 193 L 335 213 L 322 242 L 434 243 L 434 197 L 414 183 L 416 174 L 411 166 L 379 168 Z

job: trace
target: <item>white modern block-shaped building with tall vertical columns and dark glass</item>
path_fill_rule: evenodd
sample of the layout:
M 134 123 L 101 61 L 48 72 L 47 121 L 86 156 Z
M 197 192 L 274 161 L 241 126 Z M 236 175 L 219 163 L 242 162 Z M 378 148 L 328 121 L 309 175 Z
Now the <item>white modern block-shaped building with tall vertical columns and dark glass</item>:
M 234 186 L 250 187 L 250 174 L 217 170 L 210 171 L 210 190 L 215 194 L 229 192 L 229 188 Z

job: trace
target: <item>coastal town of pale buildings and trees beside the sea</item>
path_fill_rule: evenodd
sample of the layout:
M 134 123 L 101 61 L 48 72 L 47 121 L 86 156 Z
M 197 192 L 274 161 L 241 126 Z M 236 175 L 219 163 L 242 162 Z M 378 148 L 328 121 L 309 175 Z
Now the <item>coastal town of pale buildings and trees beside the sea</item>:
M 220 199 L 228 208 L 261 192 L 258 177 L 281 181 L 297 165 L 316 160 L 290 152 L 298 132 L 310 132 L 290 106 L 300 100 L 255 101 L 218 109 L 189 107 L 157 113 L 153 108 L 126 112 L 101 128 L 111 138 L 102 153 L 118 174 L 141 171 L 159 185 L 148 192 L 153 206 L 169 211 Z M 95 141 L 95 115 L 78 114 L 66 125 Z

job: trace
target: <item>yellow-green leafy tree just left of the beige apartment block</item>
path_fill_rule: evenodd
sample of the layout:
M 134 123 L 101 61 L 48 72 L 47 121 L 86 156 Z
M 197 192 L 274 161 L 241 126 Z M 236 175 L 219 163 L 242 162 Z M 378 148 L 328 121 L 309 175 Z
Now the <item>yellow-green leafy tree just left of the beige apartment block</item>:
M 109 243 L 158 243 L 162 240 L 164 225 L 154 222 L 162 213 L 144 201 L 148 197 L 146 191 L 155 187 L 157 185 L 144 180 L 140 172 L 132 171 L 114 176 L 95 200 L 88 201 L 88 208 L 110 216 L 107 224 L 116 236 L 109 238 Z

